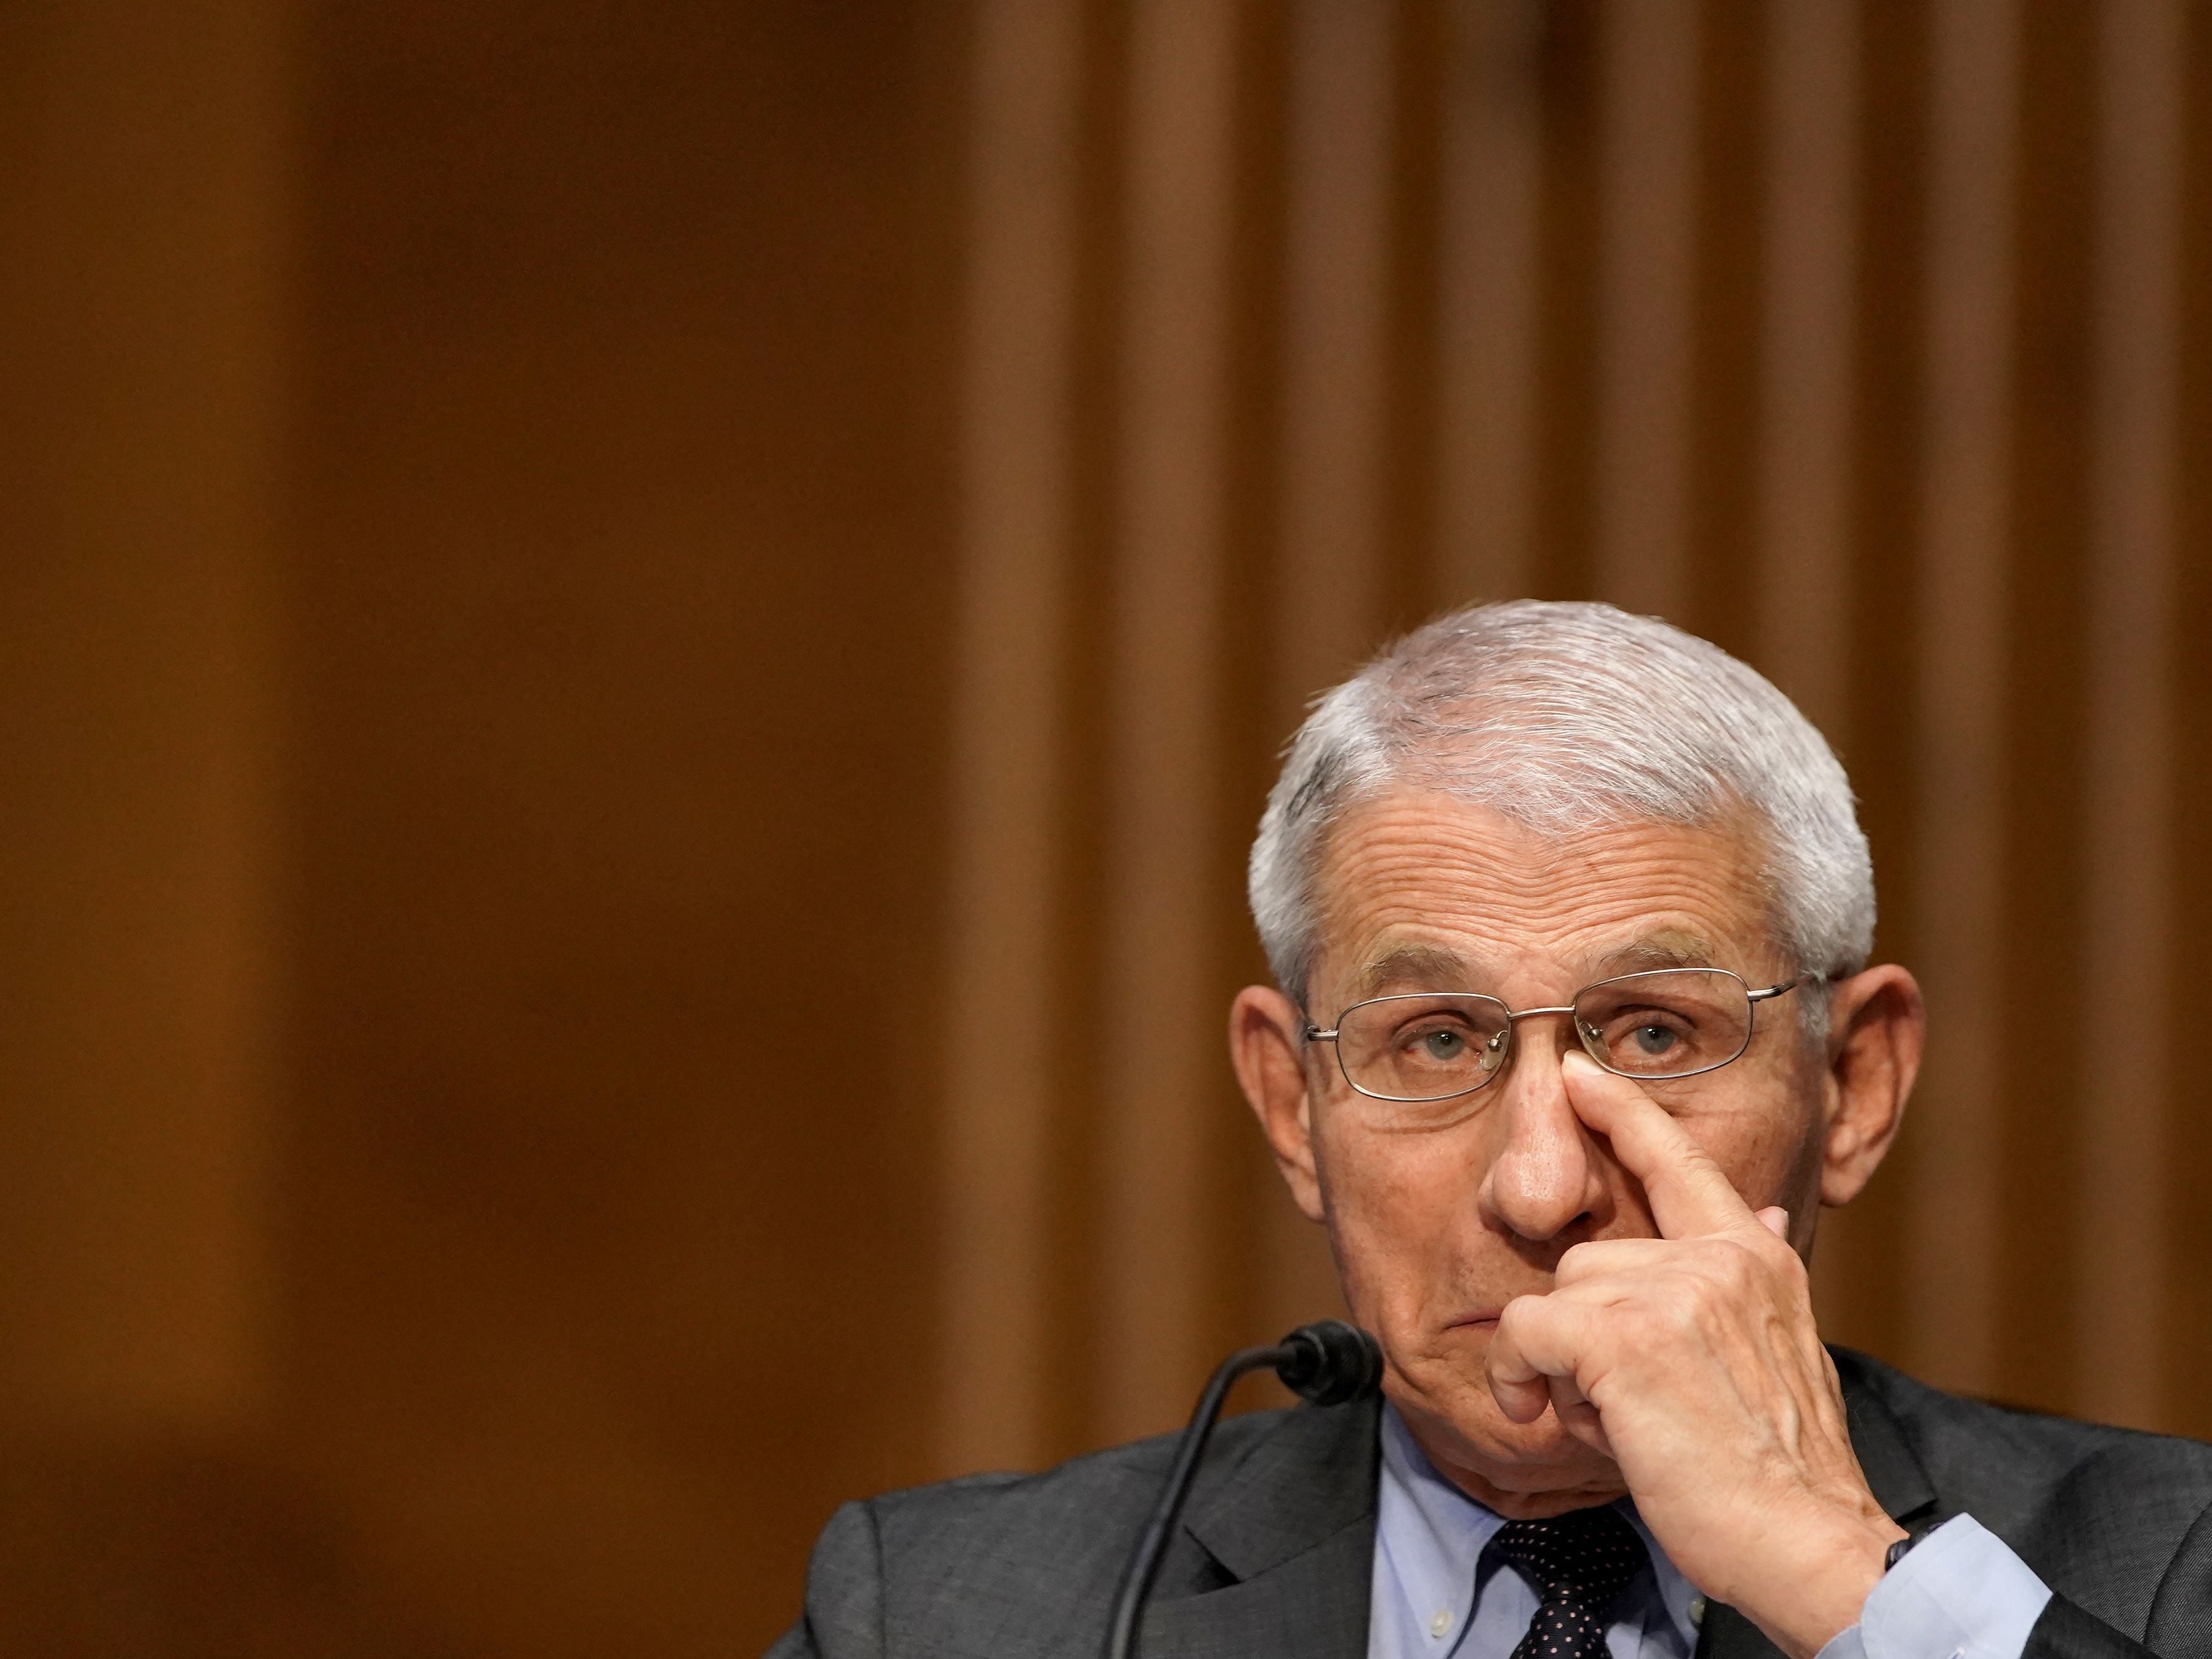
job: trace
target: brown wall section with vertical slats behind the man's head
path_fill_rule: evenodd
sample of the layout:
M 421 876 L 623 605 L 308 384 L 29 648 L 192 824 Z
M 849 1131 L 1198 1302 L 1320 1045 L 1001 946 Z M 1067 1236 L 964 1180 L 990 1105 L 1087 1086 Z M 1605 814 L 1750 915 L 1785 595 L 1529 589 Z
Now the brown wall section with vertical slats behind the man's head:
M 969 498 L 962 580 L 1046 644 L 960 655 L 993 810 L 956 860 L 1064 834 L 1026 843 L 1022 918 L 956 905 L 956 1002 L 1022 1060 L 945 1084 L 973 1230 L 945 1467 L 1168 1427 L 1212 1352 L 1329 1307 L 1219 1055 L 1261 971 L 1239 856 L 1307 697 L 1513 593 L 1719 639 L 1858 781 L 1936 1037 L 1827 1230 L 1834 1334 L 2212 1431 L 2183 1013 L 2212 9 L 975 18 L 964 431 L 971 476 L 1015 425 L 1029 467 Z

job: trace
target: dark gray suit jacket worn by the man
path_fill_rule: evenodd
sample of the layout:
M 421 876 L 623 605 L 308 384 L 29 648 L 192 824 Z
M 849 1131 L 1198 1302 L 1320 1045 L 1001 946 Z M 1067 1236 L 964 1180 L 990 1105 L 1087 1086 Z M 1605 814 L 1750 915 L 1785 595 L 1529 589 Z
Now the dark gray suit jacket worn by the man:
M 2055 1590 L 2024 1659 L 2212 1659 L 2212 1447 L 1978 1405 L 1834 1354 L 1882 1506 L 1913 1528 L 1971 1513 Z M 1146 1659 L 1363 1659 L 1376 1411 L 1221 1425 L 1161 1564 Z M 845 1504 L 770 1659 L 1095 1659 L 1172 1449 Z M 1714 1606 L 1697 1659 L 1778 1655 Z

